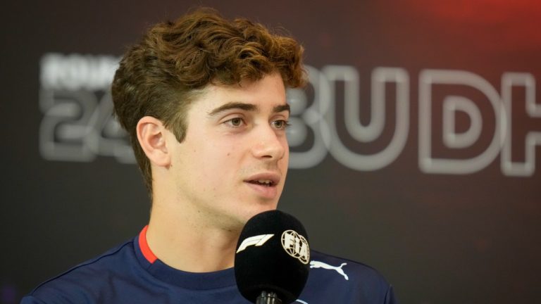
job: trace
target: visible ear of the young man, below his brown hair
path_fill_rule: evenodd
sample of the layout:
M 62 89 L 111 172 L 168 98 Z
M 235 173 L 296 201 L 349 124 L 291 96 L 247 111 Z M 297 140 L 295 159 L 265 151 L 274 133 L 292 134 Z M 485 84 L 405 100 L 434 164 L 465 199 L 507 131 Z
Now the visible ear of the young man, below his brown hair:
M 168 129 L 163 123 L 151 116 L 144 116 L 136 127 L 137 140 L 150 162 L 160 167 L 170 165 L 170 153 L 167 146 Z

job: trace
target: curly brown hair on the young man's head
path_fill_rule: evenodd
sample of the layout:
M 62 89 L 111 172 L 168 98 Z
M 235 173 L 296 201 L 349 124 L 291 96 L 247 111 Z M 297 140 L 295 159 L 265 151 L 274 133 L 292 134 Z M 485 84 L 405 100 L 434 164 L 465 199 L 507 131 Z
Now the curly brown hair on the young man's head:
M 246 19 L 226 20 L 211 8 L 151 27 L 125 53 L 111 89 L 116 117 L 129 134 L 149 194 L 151 166 L 136 134 L 141 118 L 161 120 L 181 142 L 188 106 L 201 89 L 257 81 L 273 72 L 286 87 L 301 87 L 302 53 L 287 35 Z

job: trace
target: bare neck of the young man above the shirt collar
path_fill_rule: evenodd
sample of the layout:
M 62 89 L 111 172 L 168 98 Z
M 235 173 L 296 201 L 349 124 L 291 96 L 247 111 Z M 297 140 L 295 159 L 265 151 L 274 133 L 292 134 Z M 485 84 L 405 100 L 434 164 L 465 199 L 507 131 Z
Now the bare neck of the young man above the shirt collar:
M 147 230 L 151 251 L 170 267 L 213 272 L 233 266 L 240 230 L 228 230 L 190 217 L 186 206 L 154 202 Z

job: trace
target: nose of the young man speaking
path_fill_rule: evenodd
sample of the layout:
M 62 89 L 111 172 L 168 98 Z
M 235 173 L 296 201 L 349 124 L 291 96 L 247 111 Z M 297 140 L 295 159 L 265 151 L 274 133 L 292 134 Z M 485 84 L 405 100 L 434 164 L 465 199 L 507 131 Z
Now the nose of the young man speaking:
M 259 126 L 258 129 L 258 132 L 254 132 L 255 144 L 252 148 L 254 156 L 268 160 L 284 158 L 289 148 L 285 132 L 276 132 L 270 125 Z

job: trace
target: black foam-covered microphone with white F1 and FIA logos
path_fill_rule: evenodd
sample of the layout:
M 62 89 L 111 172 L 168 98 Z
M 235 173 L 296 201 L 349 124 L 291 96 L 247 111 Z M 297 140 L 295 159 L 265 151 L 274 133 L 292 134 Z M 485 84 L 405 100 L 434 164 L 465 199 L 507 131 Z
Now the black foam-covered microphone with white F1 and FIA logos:
M 235 279 L 256 304 L 290 304 L 308 279 L 310 248 L 301 222 L 280 210 L 252 217 L 240 233 Z

